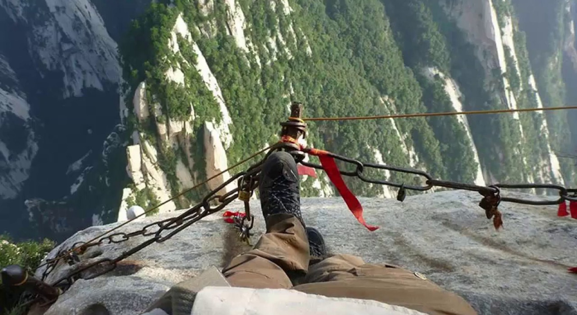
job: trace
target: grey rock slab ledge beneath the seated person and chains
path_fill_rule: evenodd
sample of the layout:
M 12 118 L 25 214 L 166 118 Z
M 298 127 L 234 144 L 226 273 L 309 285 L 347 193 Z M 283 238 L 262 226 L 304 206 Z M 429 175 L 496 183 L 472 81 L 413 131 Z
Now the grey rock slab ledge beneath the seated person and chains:
M 492 220 L 478 207 L 481 196 L 475 192 L 437 192 L 407 197 L 403 203 L 359 200 L 366 221 L 379 225 L 377 231 L 359 224 L 340 198 L 302 199 L 305 222 L 319 228 L 331 253 L 355 254 L 366 262 L 387 262 L 421 272 L 462 295 L 480 314 L 577 314 L 577 275 L 567 272 L 569 266 L 577 266 L 577 220 L 557 217 L 556 206 L 503 202 L 504 227 L 495 231 Z M 252 201 L 251 206 L 257 216 L 252 238 L 256 243 L 265 228 L 259 202 Z M 227 210 L 242 209 L 242 203 L 235 202 Z M 132 222 L 119 231 L 136 231 L 178 213 Z M 151 244 L 107 275 L 77 281 L 47 314 L 80 314 L 63 312 L 65 308 L 60 306 L 74 299 L 78 305 L 106 302 L 113 315 L 138 314 L 173 284 L 211 265 L 221 268 L 234 255 L 250 249 L 239 242 L 238 232 L 221 216 L 213 214 L 166 242 Z M 117 225 L 85 229 L 61 246 L 89 240 Z M 82 263 L 114 258 L 145 239 L 137 236 L 119 244 L 91 247 L 81 256 Z M 58 266 L 47 280 L 55 281 L 70 270 L 70 266 Z M 85 298 L 91 291 L 100 298 Z

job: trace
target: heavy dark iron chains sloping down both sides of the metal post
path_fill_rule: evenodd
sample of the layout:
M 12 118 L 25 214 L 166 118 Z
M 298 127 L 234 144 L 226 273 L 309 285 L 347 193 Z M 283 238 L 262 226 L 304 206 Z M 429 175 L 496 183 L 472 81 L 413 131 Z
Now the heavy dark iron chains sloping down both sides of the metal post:
M 80 246 L 80 250 L 76 250 L 67 257 L 69 262 L 77 262 L 79 261 L 77 254 L 83 254 L 89 247 L 93 246 L 100 246 L 101 244 L 110 244 L 110 243 L 123 243 L 129 239 L 132 239 L 136 236 L 152 236 L 151 238 L 145 240 L 143 243 L 138 244 L 136 247 L 123 252 L 122 254 L 118 255 L 116 258 L 102 258 L 91 264 L 82 266 L 81 268 L 75 270 L 74 272 L 70 273 L 69 275 L 63 276 L 57 281 L 54 282 L 54 286 L 59 286 L 63 290 L 68 290 L 68 288 L 74 283 L 76 279 L 81 277 L 81 273 L 87 272 L 87 270 L 95 269 L 95 272 L 90 273 L 89 276 L 83 277 L 83 279 L 93 279 L 95 277 L 104 275 L 111 270 L 114 270 L 117 266 L 119 261 L 124 260 L 125 258 L 129 257 L 137 253 L 138 251 L 144 249 L 145 247 L 153 244 L 153 243 L 162 243 L 166 242 L 166 240 L 172 238 L 174 235 L 181 232 L 183 229 L 188 228 L 190 225 L 196 223 L 197 221 L 201 220 L 204 217 L 207 217 L 213 213 L 219 212 L 220 210 L 224 209 L 229 203 L 233 202 L 235 199 L 239 197 L 239 195 L 245 193 L 248 195 L 252 195 L 253 191 L 258 187 L 258 177 L 260 175 L 261 166 L 263 162 L 267 159 L 268 155 L 271 154 L 273 151 L 278 150 L 286 150 L 289 151 L 291 154 L 294 155 L 295 160 L 300 162 L 302 165 L 309 166 L 314 169 L 323 169 L 323 166 L 314 164 L 312 162 L 305 162 L 303 161 L 303 157 L 305 153 L 309 153 L 311 149 L 302 148 L 299 146 L 295 146 L 294 143 L 284 143 L 280 142 L 275 146 L 272 146 L 271 149 L 268 151 L 268 154 L 263 160 L 250 166 L 250 168 L 246 172 L 237 173 L 234 176 L 231 176 L 230 179 L 222 183 L 219 187 L 216 187 L 214 190 L 210 191 L 203 200 L 197 205 L 190 207 L 190 209 L 186 210 L 182 214 L 178 216 L 166 218 L 164 220 L 156 221 L 154 223 L 148 224 L 142 229 L 134 232 L 117 232 L 115 234 L 111 234 L 100 238 L 96 242 L 92 243 L 83 243 L 78 242 L 74 243 L 72 248 L 76 248 Z M 357 177 L 358 179 L 372 184 L 381 184 L 391 187 L 399 188 L 399 197 L 400 201 L 403 201 L 404 195 L 406 194 L 406 190 L 413 190 L 413 191 L 429 191 L 433 189 L 433 187 L 442 187 L 442 188 L 452 188 L 456 190 L 467 190 L 467 191 L 477 191 L 479 194 L 484 196 L 479 206 L 485 209 L 486 216 L 488 218 L 493 218 L 494 225 L 496 228 L 499 228 L 502 224 L 501 221 L 501 214 L 497 210 L 497 206 L 501 201 L 504 202 L 513 202 L 513 203 L 522 203 L 525 205 L 557 205 L 561 202 L 565 201 L 577 201 L 577 189 L 567 189 L 565 187 L 552 185 L 552 184 L 496 184 L 494 186 L 477 186 L 472 184 L 465 184 L 465 183 L 458 183 L 454 181 L 444 181 L 444 180 L 436 180 L 433 177 L 424 171 L 419 171 L 417 169 L 409 169 L 409 168 L 399 168 L 396 166 L 388 166 L 388 165 L 381 165 L 381 164 L 372 164 L 372 163 L 363 163 L 353 158 L 344 157 L 342 155 L 328 153 L 331 157 L 335 158 L 336 160 L 351 164 L 354 166 L 354 171 L 340 171 L 340 173 L 344 176 L 348 177 Z M 417 175 L 422 177 L 424 180 L 424 185 L 416 186 L 416 185 L 407 185 L 404 183 L 395 183 L 388 180 L 381 180 L 381 179 L 371 179 L 365 176 L 366 169 L 377 169 L 377 170 L 387 170 L 391 172 L 400 172 L 400 173 L 407 173 L 411 175 Z M 219 195 L 219 192 L 223 190 L 223 188 L 227 187 L 229 184 L 237 181 L 237 188 L 227 192 L 226 194 Z M 546 190 L 556 190 L 559 192 L 559 199 L 556 200 L 546 200 L 546 201 L 534 201 L 530 199 L 519 199 L 519 198 L 508 198 L 508 197 L 501 197 L 500 196 L 500 189 L 546 189 Z M 235 226 L 239 228 L 241 231 L 241 238 L 248 239 L 249 231 L 252 228 L 254 216 L 250 216 L 249 213 L 247 214 L 246 221 L 245 220 L 235 220 Z M 66 253 L 66 250 L 61 250 L 58 256 L 62 253 Z M 43 272 L 42 279 L 46 279 L 46 277 L 54 270 L 54 268 L 58 264 L 58 259 L 55 260 L 47 260 L 46 269 Z

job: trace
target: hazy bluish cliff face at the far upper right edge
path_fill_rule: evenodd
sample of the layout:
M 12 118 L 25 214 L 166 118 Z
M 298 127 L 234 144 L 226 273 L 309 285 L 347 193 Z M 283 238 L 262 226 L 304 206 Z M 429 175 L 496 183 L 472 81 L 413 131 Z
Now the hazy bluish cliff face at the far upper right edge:
M 513 1 L 519 17 L 519 28 L 526 34 L 530 65 L 545 106 L 574 104 L 575 1 Z M 575 116 L 577 113 L 549 113 L 546 115 L 551 134 L 552 150 L 560 157 L 561 172 L 568 183 L 575 177 L 566 177 L 575 169 Z

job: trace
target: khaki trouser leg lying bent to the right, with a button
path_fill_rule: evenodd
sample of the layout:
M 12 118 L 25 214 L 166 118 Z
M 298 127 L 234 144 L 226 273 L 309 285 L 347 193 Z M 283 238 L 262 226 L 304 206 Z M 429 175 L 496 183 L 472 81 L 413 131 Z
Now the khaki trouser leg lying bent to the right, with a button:
M 352 255 L 336 255 L 313 265 L 305 282 L 294 290 L 326 297 L 371 299 L 431 315 L 477 314 L 463 298 L 409 270 L 365 264 Z

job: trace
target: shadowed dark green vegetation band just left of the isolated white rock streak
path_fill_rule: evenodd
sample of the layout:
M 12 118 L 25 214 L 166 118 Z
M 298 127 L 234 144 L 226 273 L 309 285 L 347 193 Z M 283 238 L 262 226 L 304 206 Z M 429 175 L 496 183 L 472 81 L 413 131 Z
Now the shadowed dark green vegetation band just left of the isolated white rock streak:
M 429 112 L 452 112 L 451 99 L 445 91 L 445 80 L 436 76 L 430 81 L 422 73 L 426 68 L 436 68 L 451 75 L 451 56 L 447 39 L 441 33 L 432 10 L 421 1 L 388 0 L 385 2 L 396 40 L 402 47 L 404 61 L 413 69 L 424 91 L 425 106 Z M 466 129 L 456 117 L 429 118 L 441 155 L 452 180 L 471 182 L 477 172 L 477 163 L 471 149 Z

